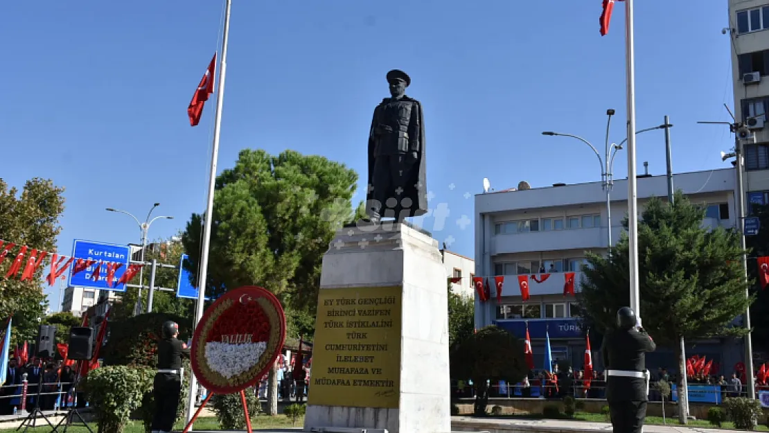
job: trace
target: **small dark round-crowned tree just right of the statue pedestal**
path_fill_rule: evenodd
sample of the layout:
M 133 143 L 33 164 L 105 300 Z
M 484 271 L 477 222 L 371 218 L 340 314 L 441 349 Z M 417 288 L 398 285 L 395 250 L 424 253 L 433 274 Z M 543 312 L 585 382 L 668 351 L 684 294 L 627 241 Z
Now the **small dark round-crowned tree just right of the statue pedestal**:
M 524 342 L 494 325 L 481 328 L 454 345 L 449 365 L 451 378 L 473 381 L 476 416 L 486 415 L 487 381 L 518 383 L 528 373 Z

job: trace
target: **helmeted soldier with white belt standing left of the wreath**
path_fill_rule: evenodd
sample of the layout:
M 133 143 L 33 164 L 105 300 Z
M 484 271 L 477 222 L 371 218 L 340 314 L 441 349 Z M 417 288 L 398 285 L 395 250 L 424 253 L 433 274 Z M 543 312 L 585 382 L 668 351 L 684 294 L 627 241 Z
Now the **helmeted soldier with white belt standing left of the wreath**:
M 179 326 L 173 321 L 163 324 L 163 339 L 158 343 L 158 372 L 155 374 L 152 395 L 155 398 L 155 417 L 152 433 L 168 433 L 174 428 L 181 396 L 181 357 L 189 358 L 190 349 L 176 338 Z

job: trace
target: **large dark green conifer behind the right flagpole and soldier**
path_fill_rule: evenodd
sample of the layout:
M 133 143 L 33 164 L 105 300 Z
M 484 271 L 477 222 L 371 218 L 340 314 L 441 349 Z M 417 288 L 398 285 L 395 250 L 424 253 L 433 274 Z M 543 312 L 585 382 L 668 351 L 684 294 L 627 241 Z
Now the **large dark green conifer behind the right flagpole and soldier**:
M 703 228 L 703 218 L 704 209 L 679 191 L 674 205 L 651 198 L 638 224 L 640 315 L 657 344 L 674 347 L 679 371 L 681 338 L 744 335 L 732 323 L 752 301 L 745 298 L 739 234 Z M 616 311 L 630 303 L 627 234 L 610 255 L 588 254 L 588 262 L 579 310 L 598 331 L 614 328 Z

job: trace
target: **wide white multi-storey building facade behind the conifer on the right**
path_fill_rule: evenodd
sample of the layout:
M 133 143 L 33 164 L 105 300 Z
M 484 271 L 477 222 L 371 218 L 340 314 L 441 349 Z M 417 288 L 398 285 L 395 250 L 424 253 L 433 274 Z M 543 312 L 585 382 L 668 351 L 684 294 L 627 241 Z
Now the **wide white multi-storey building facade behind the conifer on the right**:
M 628 211 L 628 182 L 614 182 L 611 226 L 601 182 L 558 185 L 475 196 L 477 273 L 488 278 L 491 287 L 488 301 L 475 297 L 475 325 L 498 325 L 519 338 L 524 338 L 528 326 L 536 368 L 543 367 L 547 332 L 554 361 L 566 360 L 579 369 L 584 359 L 585 331 L 574 314 L 576 298 L 564 295 L 565 275 L 574 272 L 578 295 L 585 252 L 605 254 L 609 230 L 616 245 Z M 736 225 L 734 187 L 734 168 L 674 175 L 674 188 L 706 208 L 703 224 L 709 227 Z M 667 197 L 666 176 L 638 176 L 639 213 L 652 196 Z M 504 276 L 501 302 L 494 289 L 494 277 L 498 275 Z M 519 275 L 526 275 L 528 280 L 531 298 L 525 302 L 521 299 Z M 598 351 L 600 341 L 597 344 L 594 337 L 591 347 Z M 687 345 L 694 343 L 697 350 L 692 354 L 706 355 L 721 365 L 741 361 L 740 341 L 687 341 Z M 597 368 L 600 359 L 598 353 L 594 354 Z M 672 348 L 658 348 L 647 355 L 647 366 L 677 370 Z

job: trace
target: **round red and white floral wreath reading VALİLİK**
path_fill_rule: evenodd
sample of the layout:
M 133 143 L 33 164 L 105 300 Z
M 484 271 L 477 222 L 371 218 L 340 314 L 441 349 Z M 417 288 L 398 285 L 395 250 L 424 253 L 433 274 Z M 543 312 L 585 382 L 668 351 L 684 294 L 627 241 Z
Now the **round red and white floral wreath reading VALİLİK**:
M 195 327 L 192 371 L 214 393 L 242 391 L 268 373 L 285 333 L 285 313 L 270 291 L 256 286 L 228 291 Z

